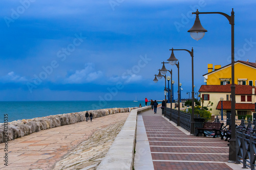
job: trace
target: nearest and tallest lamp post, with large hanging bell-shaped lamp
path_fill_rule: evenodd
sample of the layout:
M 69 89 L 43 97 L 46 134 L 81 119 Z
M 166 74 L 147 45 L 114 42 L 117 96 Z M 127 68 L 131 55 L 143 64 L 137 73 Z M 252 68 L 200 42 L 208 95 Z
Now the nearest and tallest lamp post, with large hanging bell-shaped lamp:
M 231 25 L 231 139 L 229 140 L 229 162 L 236 161 L 236 94 L 235 94 L 235 86 L 234 86 L 234 11 L 232 8 L 231 15 L 227 15 L 223 12 L 193 12 L 192 14 L 196 14 L 196 20 L 193 27 L 188 30 L 190 32 L 190 36 L 195 39 L 199 40 L 204 37 L 205 30 L 200 22 L 199 14 L 221 14 L 225 16 L 229 24 Z

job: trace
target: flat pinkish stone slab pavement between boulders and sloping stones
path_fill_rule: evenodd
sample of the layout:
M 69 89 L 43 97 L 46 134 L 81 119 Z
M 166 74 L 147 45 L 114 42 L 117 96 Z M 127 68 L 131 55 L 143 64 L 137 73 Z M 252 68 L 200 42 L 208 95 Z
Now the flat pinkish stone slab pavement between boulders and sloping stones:
M 5 143 L 0 143 L 0 169 L 53 169 L 56 162 L 95 131 L 125 120 L 129 114 L 110 114 L 94 118 L 92 122 L 60 126 L 10 140 L 8 166 L 4 165 Z

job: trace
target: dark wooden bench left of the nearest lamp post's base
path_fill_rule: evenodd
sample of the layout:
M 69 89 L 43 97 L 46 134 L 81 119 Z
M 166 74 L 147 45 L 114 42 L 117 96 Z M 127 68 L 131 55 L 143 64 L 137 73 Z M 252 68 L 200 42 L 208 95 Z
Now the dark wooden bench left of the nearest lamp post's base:
M 199 136 L 199 134 L 203 134 L 204 136 L 206 136 L 204 131 L 214 131 L 215 138 L 217 135 L 221 135 L 222 126 L 223 123 L 205 122 L 203 128 L 196 128 L 198 130 L 197 136 Z

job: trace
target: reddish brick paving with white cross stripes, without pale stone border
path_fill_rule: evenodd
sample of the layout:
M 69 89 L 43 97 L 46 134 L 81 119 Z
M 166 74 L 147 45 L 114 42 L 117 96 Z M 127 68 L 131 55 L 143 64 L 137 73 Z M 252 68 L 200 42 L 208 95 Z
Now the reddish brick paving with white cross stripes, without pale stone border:
M 227 142 L 187 135 L 161 115 L 142 115 L 154 169 L 232 169 Z

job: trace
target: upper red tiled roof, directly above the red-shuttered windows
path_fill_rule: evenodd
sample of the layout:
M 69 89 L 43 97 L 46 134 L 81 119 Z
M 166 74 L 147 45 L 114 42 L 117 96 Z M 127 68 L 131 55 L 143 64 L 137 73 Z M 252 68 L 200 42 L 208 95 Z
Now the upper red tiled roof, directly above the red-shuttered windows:
M 199 89 L 199 92 L 231 92 L 231 84 L 226 85 L 202 85 Z M 252 94 L 252 88 L 254 86 L 250 85 L 237 85 L 236 94 Z

